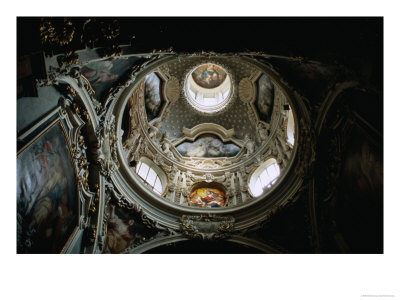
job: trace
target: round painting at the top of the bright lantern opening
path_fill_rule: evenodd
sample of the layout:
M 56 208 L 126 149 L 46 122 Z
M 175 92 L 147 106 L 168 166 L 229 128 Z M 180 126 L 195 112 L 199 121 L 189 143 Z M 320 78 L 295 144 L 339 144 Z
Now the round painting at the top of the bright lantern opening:
M 192 72 L 194 82 L 206 89 L 220 86 L 226 78 L 226 72 L 214 64 L 204 64 Z

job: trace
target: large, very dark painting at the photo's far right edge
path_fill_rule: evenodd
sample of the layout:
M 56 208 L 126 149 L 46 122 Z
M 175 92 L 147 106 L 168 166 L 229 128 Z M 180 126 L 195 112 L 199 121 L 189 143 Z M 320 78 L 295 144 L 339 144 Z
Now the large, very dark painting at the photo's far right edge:
M 383 252 L 383 143 L 359 126 L 347 137 L 338 199 L 339 232 L 354 253 Z

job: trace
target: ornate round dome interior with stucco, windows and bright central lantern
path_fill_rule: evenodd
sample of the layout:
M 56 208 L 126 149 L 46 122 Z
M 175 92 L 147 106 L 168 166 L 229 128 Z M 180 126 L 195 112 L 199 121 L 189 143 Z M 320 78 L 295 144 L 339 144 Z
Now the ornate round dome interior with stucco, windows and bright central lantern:
M 166 177 L 156 194 L 204 208 L 241 206 L 279 183 L 292 158 L 295 122 L 287 94 L 266 70 L 238 57 L 199 55 L 170 59 L 141 75 L 129 99 L 121 99 L 122 155 L 131 178 L 155 191 Z M 217 90 L 222 97 L 218 89 L 227 82 L 225 99 L 205 99 L 223 106 L 212 111 L 192 103 L 199 93 Z M 193 96 L 188 83 L 203 86 Z

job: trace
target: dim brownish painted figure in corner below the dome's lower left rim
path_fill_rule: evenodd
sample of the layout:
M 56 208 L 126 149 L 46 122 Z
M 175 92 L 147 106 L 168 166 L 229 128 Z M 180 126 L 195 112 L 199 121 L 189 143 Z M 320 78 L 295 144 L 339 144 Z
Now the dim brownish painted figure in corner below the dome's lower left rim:
M 110 218 L 107 222 L 107 236 L 104 253 L 120 253 L 132 245 L 135 240 L 132 219 L 123 220 L 115 213 L 115 206 L 111 209 Z

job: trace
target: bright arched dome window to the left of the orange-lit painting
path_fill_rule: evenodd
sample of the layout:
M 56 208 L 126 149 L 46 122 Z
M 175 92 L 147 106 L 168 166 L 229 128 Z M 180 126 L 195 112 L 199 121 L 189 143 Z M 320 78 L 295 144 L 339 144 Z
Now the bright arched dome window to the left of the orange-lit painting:
M 156 194 L 164 193 L 168 184 L 167 175 L 151 159 L 142 157 L 136 166 L 136 173 Z

